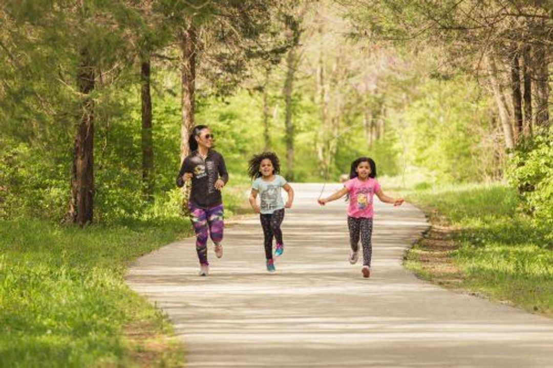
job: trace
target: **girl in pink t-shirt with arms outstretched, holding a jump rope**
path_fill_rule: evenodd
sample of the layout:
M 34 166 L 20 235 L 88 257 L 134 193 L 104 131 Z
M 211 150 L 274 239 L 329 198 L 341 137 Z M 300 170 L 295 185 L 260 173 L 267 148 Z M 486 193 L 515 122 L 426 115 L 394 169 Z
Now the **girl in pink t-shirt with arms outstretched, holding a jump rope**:
M 401 203 L 404 201 L 403 198 L 394 199 L 384 194 L 380 188 L 380 184 L 375 180 L 376 176 L 377 166 L 374 164 L 374 161 L 369 157 L 359 157 L 352 162 L 349 180 L 344 183 L 342 190 L 327 198 L 320 198 L 318 200 L 319 204 L 324 206 L 325 203 L 335 201 L 348 194 L 347 224 L 349 243 L 351 245 L 349 263 L 353 265 L 357 262 L 359 237 L 361 237 L 361 244 L 363 245 L 363 268 L 361 269 L 361 273 L 363 277 L 371 276 L 374 194 L 377 195 L 380 201 L 392 203 L 394 206 L 401 206 Z

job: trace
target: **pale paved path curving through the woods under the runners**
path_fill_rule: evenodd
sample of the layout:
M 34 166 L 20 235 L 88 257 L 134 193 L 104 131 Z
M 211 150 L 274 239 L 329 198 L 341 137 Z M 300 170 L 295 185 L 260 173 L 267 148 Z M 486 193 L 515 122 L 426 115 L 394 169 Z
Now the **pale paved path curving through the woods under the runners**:
M 339 185 L 327 185 L 327 192 Z M 316 204 L 320 184 L 295 184 L 277 272 L 265 271 L 257 217 L 225 229 L 197 275 L 194 239 L 140 258 L 133 290 L 168 314 L 187 367 L 551 367 L 553 323 L 453 293 L 401 266 L 427 228 L 424 215 L 376 199 L 373 265 L 349 265 L 345 203 Z

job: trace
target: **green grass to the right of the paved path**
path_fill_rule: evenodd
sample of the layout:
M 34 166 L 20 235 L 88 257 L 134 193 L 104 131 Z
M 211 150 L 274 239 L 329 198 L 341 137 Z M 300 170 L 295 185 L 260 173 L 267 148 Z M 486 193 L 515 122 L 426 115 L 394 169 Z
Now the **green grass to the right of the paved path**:
M 451 260 L 462 271 L 463 288 L 553 314 L 551 230 L 517 211 L 515 190 L 502 184 L 422 186 L 408 198 L 426 208 L 433 223 L 454 229 L 458 248 Z

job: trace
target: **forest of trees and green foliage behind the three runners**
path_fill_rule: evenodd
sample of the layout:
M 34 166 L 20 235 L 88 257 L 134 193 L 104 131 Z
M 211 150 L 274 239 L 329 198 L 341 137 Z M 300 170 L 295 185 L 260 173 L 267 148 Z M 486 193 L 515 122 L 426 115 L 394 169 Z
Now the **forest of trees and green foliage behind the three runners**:
M 294 181 L 336 181 L 368 155 L 404 183 L 510 178 L 526 210 L 551 220 L 550 12 L 4 2 L 0 215 L 82 225 L 176 213 L 187 134 L 207 124 L 234 183 L 262 150 Z

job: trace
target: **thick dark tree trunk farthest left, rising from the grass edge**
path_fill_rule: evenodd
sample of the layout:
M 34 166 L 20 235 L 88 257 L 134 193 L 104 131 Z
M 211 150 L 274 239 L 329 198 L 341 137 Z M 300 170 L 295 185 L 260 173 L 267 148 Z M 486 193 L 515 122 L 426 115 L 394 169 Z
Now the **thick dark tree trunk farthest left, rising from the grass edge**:
M 77 126 L 73 151 L 71 201 L 67 220 L 83 227 L 92 222 L 94 199 L 93 138 L 94 105 L 88 96 L 94 90 L 94 67 L 87 49 L 81 50 L 81 65 L 77 72 L 77 86 L 82 94 L 80 122 Z

